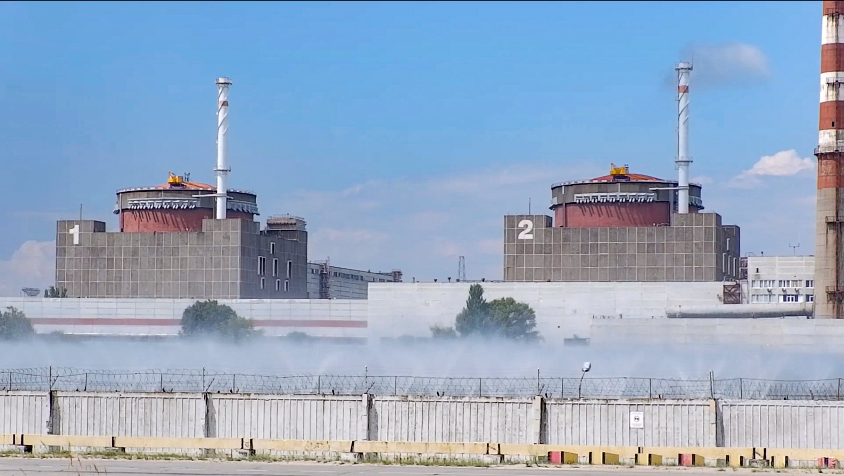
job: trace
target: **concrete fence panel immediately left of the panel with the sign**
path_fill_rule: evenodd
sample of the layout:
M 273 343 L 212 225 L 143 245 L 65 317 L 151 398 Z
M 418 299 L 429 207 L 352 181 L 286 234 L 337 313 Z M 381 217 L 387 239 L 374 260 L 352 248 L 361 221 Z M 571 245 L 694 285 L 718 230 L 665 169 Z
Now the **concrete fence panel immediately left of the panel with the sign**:
M 370 440 L 535 443 L 533 399 L 376 397 Z

